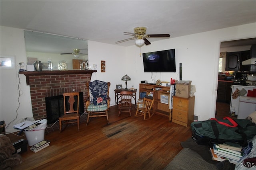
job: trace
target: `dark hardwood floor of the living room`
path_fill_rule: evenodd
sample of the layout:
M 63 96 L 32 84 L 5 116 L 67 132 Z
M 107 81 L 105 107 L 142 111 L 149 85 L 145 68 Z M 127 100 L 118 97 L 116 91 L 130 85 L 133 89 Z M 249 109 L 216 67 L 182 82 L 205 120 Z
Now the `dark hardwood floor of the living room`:
M 106 117 L 82 121 L 45 135 L 50 146 L 37 153 L 21 154 L 23 162 L 14 170 L 65 169 L 65 170 L 161 170 L 182 149 L 180 142 L 192 136 L 190 127 L 169 122 L 168 117 L 154 114 L 151 119 L 121 113 L 112 106 L 110 125 Z M 82 120 L 86 115 L 82 115 Z M 8 134 L 12 142 L 20 137 Z M 23 137 L 25 138 L 25 136 Z

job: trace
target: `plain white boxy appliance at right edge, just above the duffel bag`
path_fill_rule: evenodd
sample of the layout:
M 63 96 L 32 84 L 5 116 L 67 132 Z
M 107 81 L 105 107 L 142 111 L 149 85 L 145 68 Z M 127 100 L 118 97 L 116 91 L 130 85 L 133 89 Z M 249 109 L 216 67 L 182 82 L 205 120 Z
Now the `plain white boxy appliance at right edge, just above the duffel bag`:
M 256 111 L 256 98 L 240 96 L 237 118 L 246 119 L 254 111 Z

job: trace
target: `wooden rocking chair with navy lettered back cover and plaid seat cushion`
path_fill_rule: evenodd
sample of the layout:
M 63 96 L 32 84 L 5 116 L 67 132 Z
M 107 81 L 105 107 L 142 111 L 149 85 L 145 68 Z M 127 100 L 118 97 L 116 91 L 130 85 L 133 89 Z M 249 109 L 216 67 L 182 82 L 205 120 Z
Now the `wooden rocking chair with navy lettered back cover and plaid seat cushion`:
M 87 123 L 89 123 L 90 117 L 102 117 L 106 116 L 108 121 L 108 111 L 110 106 L 109 87 L 110 82 L 103 82 L 100 80 L 94 80 L 93 82 L 86 83 L 88 91 L 88 99 L 86 100 L 86 112 Z

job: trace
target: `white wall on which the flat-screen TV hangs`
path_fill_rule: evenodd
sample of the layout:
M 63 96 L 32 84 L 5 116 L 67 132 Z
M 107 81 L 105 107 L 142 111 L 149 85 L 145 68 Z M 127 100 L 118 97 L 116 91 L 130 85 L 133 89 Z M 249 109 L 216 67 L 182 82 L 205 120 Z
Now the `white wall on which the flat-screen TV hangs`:
M 142 46 L 141 49 L 134 45 L 126 50 L 127 66 L 134 65 L 131 69 L 126 68 L 129 70 L 127 74 L 132 78 L 131 84 L 137 88 L 140 80 L 152 82 L 151 74 L 143 71 L 140 50 L 141 53 L 147 53 L 175 49 L 176 73 L 154 73 L 153 75 L 156 80 L 170 81 L 170 78 L 179 80 L 179 63 L 182 63 L 182 80 L 192 80 L 192 84 L 196 86 L 194 114 L 199 115 L 199 120 L 206 120 L 215 117 L 220 42 L 252 37 L 256 37 L 256 23 L 183 37 L 170 37 L 170 39 Z

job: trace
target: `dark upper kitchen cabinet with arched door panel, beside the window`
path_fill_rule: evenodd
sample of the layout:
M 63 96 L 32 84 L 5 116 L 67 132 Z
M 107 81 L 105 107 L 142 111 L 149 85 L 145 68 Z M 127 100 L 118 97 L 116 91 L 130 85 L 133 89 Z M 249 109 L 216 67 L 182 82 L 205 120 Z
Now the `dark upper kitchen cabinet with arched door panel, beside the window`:
M 240 68 L 240 52 L 231 52 L 226 55 L 226 71 L 238 71 Z

